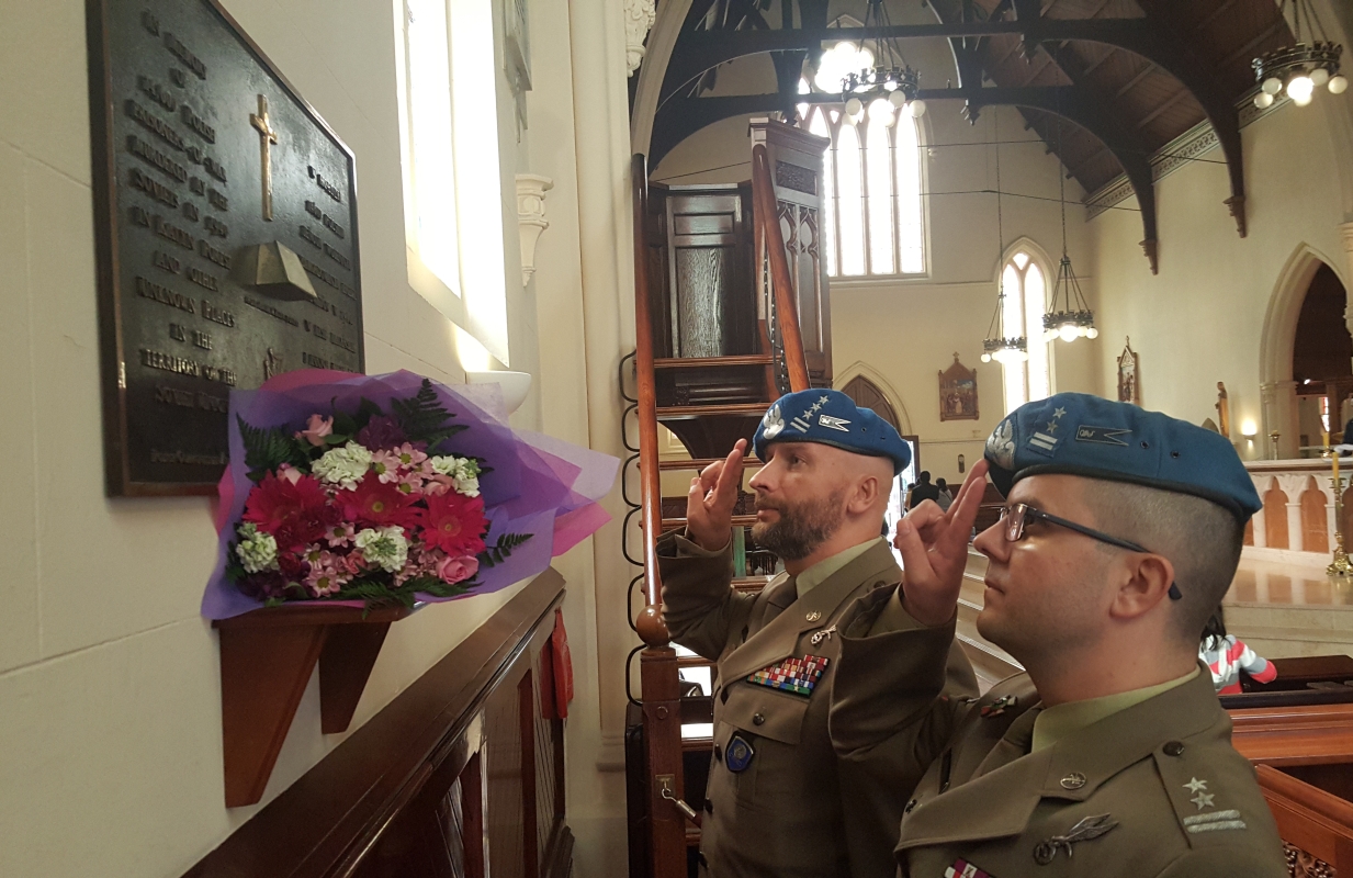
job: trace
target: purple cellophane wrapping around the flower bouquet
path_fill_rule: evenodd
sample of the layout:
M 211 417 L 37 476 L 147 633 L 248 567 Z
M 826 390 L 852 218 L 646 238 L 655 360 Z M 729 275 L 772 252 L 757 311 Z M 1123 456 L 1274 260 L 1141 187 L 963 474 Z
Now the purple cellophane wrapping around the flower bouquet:
M 237 415 L 256 428 L 285 426 L 300 430 L 313 414 L 327 415 L 334 409 L 349 414 L 365 396 L 390 414 L 390 400 L 413 396 L 422 376 L 413 372 L 353 375 L 325 369 L 300 369 L 271 379 L 258 390 L 230 392 L 230 465 L 218 486 L 216 568 L 202 595 L 202 614 L 229 618 L 262 606 L 239 591 L 226 578 L 226 560 L 235 526 L 253 487 L 244 464 L 244 440 Z M 563 440 L 507 426 L 502 392 L 497 384 L 467 384 L 456 388 L 433 382 L 441 405 L 455 418 L 451 423 L 469 429 L 453 436 L 442 449 L 459 457 L 479 457 L 492 472 L 479 479 L 484 514 L 490 521 L 486 541 L 499 534 L 534 534 L 511 556 L 492 568 L 480 567 L 478 580 L 464 598 L 498 591 L 544 571 L 553 556 L 610 521 L 598 501 L 610 491 L 620 461 L 579 448 Z M 453 601 L 419 593 L 419 601 Z M 311 601 L 308 605 L 361 606 L 361 601 Z

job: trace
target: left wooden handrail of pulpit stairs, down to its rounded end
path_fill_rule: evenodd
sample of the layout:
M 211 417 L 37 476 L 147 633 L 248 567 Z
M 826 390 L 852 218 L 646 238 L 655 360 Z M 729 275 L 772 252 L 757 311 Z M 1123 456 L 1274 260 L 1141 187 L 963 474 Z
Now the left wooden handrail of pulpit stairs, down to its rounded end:
M 636 621 L 639 636 L 649 648 L 666 647 L 667 625 L 658 607 L 663 602 L 663 580 L 658 574 L 658 536 L 663 532 L 663 483 L 658 469 L 658 387 L 653 376 L 653 322 L 648 298 L 648 158 L 636 154 L 630 162 L 635 208 L 635 371 L 639 386 L 639 473 L 643 482 L 641 511 L 644 533 L 644 603 Z

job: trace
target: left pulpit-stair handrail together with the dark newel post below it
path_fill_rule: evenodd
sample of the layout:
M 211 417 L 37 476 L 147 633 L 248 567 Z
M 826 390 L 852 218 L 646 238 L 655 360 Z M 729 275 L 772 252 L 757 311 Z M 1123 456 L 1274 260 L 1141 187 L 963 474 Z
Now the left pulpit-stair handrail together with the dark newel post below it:
M 635 369 L 639 390 L 639 472 L 643 482 L 644 609 L 635 626 L 647 649 L 639 656 L 644 699 L 645 786 L 648 790 L 649 875 L 682 878 L 686 874 L 686 818 L 663 797 L 682 798 L 681 690 L 676 652 L 668 644 L 663 622 L 663 584 L 658 571 L 658 537 L 662 534 L 662 473 L 658 468 L 658 390 L 653 379 L 653 323 L 649 314 L 648 162 L 635 156 Z

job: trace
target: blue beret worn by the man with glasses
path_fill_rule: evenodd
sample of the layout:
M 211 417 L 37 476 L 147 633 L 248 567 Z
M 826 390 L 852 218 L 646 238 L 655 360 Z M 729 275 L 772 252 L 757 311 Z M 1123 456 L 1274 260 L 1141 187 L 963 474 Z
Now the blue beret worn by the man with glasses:
M 1020 406 L 986 440 L 986 460 L 1003 495 L 1024 476 L 1065 472 L 1192 494 L 1241 522 L 1262 507 L 1250 473 L 1220 433 L 1088 394 Z

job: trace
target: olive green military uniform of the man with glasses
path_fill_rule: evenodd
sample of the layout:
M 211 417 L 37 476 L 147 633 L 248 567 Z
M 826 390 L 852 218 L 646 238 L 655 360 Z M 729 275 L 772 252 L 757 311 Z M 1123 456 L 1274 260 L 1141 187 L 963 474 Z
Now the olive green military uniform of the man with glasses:
M 1206 670 L 1031 752 L 1043 706 L 1027 674 L 981 699 L 904 689 L 927 667 L 934 686 L 954 625 L 879 625 L 888 602 L 897 607 L 893 591 L 871 593 L 839 624 L 831 731 L 838 752 L 861 767 L 930 764 L 915 791 L 896 791 L 907 800 L 900 875 L 1287 874 L 1254 768 L 1231 747 Z

